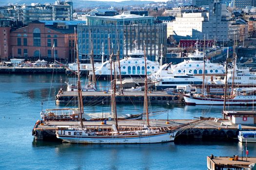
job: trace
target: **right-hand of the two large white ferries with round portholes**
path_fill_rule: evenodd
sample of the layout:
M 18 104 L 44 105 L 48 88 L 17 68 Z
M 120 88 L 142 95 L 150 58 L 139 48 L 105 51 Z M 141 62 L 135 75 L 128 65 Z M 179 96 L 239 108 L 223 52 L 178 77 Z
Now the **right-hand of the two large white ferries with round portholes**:
M 161 79 L 176 74 L 194 74 L 196 77 L 202 78 L 204 67 L 203 52 L 196 50 L 194 54 L 190 54 L 188 57 L 190 58 L 189 60 L 184 60 L 177 65 L 172 65 L 171 63 L 162 65 L 153 77 Z M 211 63 L 210 60 L 205 61 L 205 77 L 209 78 L 208 80 L 215 79 L 216 76 L 224 73 L 225 69 L 222 65 Z

